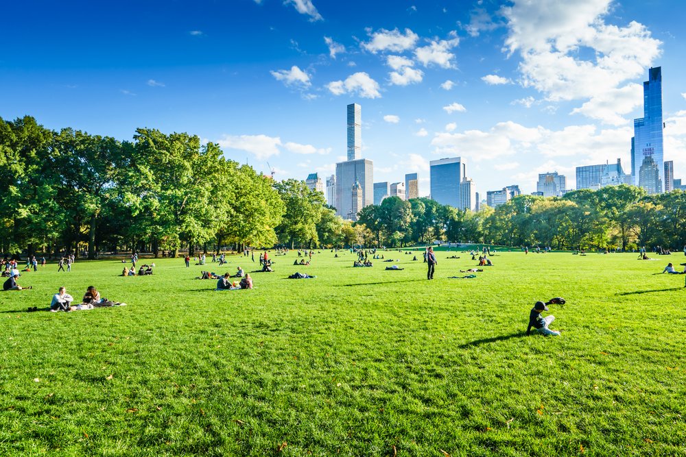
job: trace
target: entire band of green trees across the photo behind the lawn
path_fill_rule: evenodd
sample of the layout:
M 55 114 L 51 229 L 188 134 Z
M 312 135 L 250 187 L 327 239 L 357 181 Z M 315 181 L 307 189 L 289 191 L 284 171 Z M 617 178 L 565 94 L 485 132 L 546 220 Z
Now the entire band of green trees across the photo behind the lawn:
M 85 250 L 203 251 L 231 245 L 399 247 L 434 240 L 509 246 L 630 249 L 686 244 L 686 193 L 633 186 L 562 198 L 514 197 L 460 211 L 388 197 L 344 221 L 300 180 L 274 182 L 227 160 L 215 143 L 139 128 L 117 140 L 0 118 L 0 248 L 5 254 Z

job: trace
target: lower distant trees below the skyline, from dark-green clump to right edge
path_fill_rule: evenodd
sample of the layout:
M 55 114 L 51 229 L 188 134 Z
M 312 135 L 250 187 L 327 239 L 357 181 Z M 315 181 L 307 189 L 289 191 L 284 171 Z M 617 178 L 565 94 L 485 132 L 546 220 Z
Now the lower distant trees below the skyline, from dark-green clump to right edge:
M 635 186 L 574 190 L 564 197 L 519 195 L 477 212 L 427 198 L 387 197 L 359 212 L 379 245 L 433 240 L 554 249 L 637 249 L 686 245 L 686 193 L 648 195 Z

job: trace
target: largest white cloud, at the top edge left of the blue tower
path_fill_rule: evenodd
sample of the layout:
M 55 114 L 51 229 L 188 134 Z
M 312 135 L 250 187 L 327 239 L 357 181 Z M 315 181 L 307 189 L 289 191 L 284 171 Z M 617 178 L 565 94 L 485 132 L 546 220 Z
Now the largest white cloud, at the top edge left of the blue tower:
M 509 29 L 504 50 L 521 54 L 523 86 L 543 92 L 548 101 L 587 99 L 587 108 L 576 112 L 590 115 L 591 107 L 600 106 L 602 120 L 617 124 L 628 103 L 613 103 L 608 93 L 627 95 L 626 83 L 646 75 L 662 43 L 635 21 L 606 24 L 611 2 L 517 1 L 501 11 Z

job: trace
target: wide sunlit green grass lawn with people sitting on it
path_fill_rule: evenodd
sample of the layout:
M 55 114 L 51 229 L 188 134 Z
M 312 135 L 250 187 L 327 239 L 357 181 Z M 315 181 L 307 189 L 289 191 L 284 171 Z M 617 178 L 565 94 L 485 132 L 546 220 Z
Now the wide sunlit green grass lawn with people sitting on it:
M 421 251 L 383 254 L 405 269 L 272 252 L 252 291 L 193 279 L 257 269 L 241 256 L 25 273 L 0 293 L 0 455 L 686 455 L 686 276 L 654 275 L 684 256 L 512 252 L 448 279 L 476 263 L 453 249 L 427 281 Z M 26 311 L 91 284 L 128 306 Z M 557 296 L 562 336 L 525 336 Z

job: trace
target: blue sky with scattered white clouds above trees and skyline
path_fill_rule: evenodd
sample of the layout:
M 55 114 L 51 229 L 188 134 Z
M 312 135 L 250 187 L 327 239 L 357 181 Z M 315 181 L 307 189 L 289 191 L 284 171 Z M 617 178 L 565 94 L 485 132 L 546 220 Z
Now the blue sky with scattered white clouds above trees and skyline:
M 477 190 L 630 168 L 632 119 L 663 68 L 665 160 L 686 178 L 679 0 L 10 2 L 0 116 L 132 138 L 189 132 L 277 179 L 331 175 L 362 106 L 375 181 L 461 156 Z

